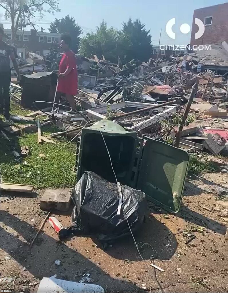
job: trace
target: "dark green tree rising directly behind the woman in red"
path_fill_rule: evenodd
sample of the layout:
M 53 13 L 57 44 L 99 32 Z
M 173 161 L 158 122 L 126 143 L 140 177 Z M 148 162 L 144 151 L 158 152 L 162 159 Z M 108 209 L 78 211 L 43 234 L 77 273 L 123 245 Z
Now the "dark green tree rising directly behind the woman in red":
M 71 48 L 75 53 L 78 52 L 82 30 L 75 22 L 75 18 L 70 17 L 69 14 L 61 19 L 55 18 L 48 30 L 50 33 L 69 33 L 72 39 Z

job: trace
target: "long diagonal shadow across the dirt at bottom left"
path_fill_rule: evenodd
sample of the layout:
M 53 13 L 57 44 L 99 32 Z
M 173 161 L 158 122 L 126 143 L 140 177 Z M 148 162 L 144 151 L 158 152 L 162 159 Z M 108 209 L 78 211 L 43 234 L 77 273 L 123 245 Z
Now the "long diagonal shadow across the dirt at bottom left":
M 59 279 L 78 282 L 81 278 L 79 272 L 90 272 L 94 283 L 102 286 L 107 292 L 144 292 L 131 282 L 110 277 L 99 265 L 77 252 L 76 248 L 69 248 L 47 234 L 40 234 L 32 248 L 25 241 L 31 243 L 37 230 L 27 222 L 6 211 L 0 211 L 0 222 L 11 227 L 20 236 L 16 238 L 6 229 L 0 230 L 0 248 L 14 258 L 22 267 L 35 277 L 50 277 L 57 274 Z M 55 260 L 60 259 L 60 266 Z M 78 276 L 78 277 L 77 277 Z M 17 288 L 15 288 L 17 289 Z

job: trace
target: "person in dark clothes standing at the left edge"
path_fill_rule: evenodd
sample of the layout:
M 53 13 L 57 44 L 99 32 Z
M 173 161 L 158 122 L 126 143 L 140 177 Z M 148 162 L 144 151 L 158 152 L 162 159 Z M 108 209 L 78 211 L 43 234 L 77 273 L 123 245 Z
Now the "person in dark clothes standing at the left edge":
M 17 79 L 20 80 L 20 73 L 18 64 L 16 62 L 13 49 L 10 45 L 6 44 L 2 39 L 4 37 L 4 30 L 0 28 L 0 113 L 9 119 L 9 86 L 11 82 L 11 69 L 9 64 L 9 57 L 13 62 L 13 67 L 17 73 Z

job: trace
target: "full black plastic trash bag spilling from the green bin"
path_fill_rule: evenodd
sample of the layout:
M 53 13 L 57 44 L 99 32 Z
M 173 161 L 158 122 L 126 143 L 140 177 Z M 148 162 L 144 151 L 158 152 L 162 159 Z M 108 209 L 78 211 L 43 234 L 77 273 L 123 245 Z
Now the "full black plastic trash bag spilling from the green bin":
M 123 206 L 134 232 L 138 230 L 145 218 L 146 195 L 126 185 L 121 185 Z M 117 185 L 101 176 L 87 171 L 75 185 L 72 199 L 75 207 L 72 212 L 71 226 L 74 234 L 96 234 L 100 241 L 111 241 L 130 234 L 129 226 L 121 207 L 117 215 L 119 193 Z

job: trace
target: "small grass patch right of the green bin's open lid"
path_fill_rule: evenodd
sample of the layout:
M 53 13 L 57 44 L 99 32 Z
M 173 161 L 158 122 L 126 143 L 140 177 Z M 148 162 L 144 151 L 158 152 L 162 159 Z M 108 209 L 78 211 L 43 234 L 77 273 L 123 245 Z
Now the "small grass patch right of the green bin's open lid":
M 200 155 L 190 154 L 190 164 L 188 169 L 189 175 L 214 173 L 218 171 L 217 167 L 207 160 L 207 156 L 207 154 L 203 153 L 201 153 Z

